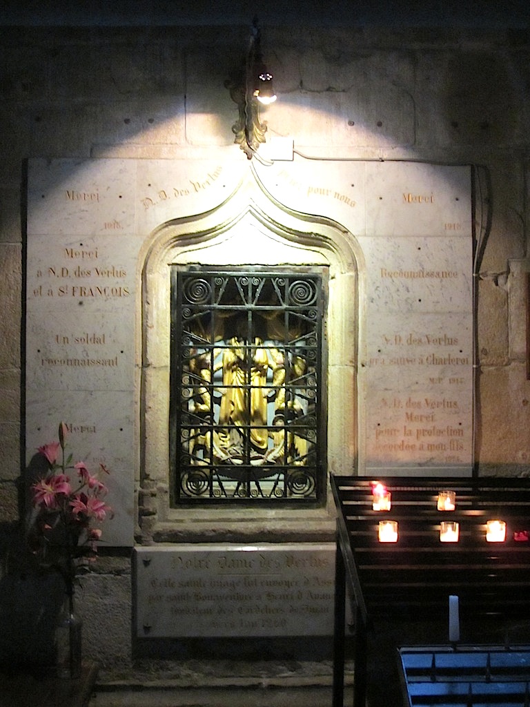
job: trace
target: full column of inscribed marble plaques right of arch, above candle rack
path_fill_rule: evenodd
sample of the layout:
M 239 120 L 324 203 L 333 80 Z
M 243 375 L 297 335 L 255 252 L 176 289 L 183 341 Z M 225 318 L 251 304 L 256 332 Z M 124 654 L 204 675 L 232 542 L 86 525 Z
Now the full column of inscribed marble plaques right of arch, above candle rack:
M 467 168 L 366 167 L 365 474 L 471 474 Z

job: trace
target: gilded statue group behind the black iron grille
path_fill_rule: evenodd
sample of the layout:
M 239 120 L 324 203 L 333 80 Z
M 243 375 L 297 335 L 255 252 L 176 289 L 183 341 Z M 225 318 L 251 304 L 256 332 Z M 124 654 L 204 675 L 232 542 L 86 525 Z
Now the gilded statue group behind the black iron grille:
M 195 351 L 189 410 L 204 425 L 190 431 L 192 464 L 305 464 L 307 440 L 289 425 L 304 410 L 286 383 L 306 370 L 305 358 L 286 354 L 278 341 L 247 341 L 241 332 L 217 341 L 213 351 Z

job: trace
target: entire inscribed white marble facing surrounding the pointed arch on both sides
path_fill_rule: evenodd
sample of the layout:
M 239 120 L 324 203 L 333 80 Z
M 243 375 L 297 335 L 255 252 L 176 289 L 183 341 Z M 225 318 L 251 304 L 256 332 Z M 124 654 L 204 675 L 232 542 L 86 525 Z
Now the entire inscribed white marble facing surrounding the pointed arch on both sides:
M 351 239 L 359 311 L 365 315 L 358 322 L 357 310 L 344 314 L 351 335 L 361 332 L 359 473 L 471 472 L 469 168 L 295 155 L 288 163 L 257 163 L 249 174 L 245 156 L 232 147 L 194 160 L 30 160 L 28 458 L 35 445 L 54 438 L 60 420 L 71 425 L 76 443 L 90 439 L 82 453 L 101 453 L 119 490 L 109 499 L 118 519 L 106 538 L 110 544 L 134 542 L 140 455 L 132 421 L 140 397 L 135 371 L 141 366 L 135 327 L 146 255 L 167 223 L 215 213 L 236 192 L 246 206 L 245 179 L 258 180 L 288 210 L 334 221 Z M 310 216 L 307 224 L 310 230 Z M 239 257 L 254 262 L 255 239 L 244 223 L 221 234 L 213 249 L 207 250 L 212 243 L 190 240 L 177 259 L 217 258 L 222 264 L 227 238 Z M 291 262 L 300 262 L 301 248 L 292 246 Z M 263 263 L 275 257 L 259 255 Z M 319 257 L 314 255 L 315 262 Z M 290 262 L 285 246 L 282 262 Z M 162 332 L 156 341 L 160 351 L 155 357 L 150 352 L 151 360 L 165 366 L 167 335 Z M 330 351 L 330 362 L 343 363 L 334 356 Z M 160 450 L 161 458 L 166 455 Z

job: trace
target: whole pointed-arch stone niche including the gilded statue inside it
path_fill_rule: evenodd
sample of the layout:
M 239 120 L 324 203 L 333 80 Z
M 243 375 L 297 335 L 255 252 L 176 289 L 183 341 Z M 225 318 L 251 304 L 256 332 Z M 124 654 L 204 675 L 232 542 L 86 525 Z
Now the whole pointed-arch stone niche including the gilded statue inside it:
M 300 524 L 302 534 L 307 536 L 314 534 L 314 523 L 324 522 L 326 530 L 332 531 L 333 514 L 326 480 L 329 474 L 353 472 L 357 461 L 355 371 L 360 329 L 360 257 L 353 236 L 336 223 L 285 211 L 252 182 L 240 187 L 232 199 L 215 211 L 165 223 L 155 230 L 143 259 L 139 322 L 143 351 L 139 508 L 144 534 L 155 539 L 172 539 L 188 525 L 195 530 L 201 524 L 215 525 L 226 518 L 227 504 L 223 501 L 230 501 L 228 525 L 237 523 L 241 530 L 241 523 L 252 519 L 245 537 L 257 532 L 260 520 L 266 520 L 267 529 L 273 534 L 277 526 L 278 537 L 285 531 L 285 522 Z M 256 301 L 242 300 L 237 289 L 238 278 L 252 273 L 259 281 L 260 291 L 268 291 L 261 299 L 262 311 L 259 305 L 257 309 Z M 199 286 L 199 282 L 213 282 L 216 275 L 224 278 L 223 287 L 232 291 L 230 296 L 223 294 L 216 301 L 230 306 L 235 303 L 235 309 L 230 311 L 230 306 L 224 309 L 221 306 L 214 315 L 216 325 L 208 324 L 205 328 L 204 317 L 211 314 L 205 314 L 202 308 L 201 322 L 196 319 L 193 325 L 185 322 L 182 329 L 184 305 L 199 303 L 196 309 L 200 310 L 201 298 L 188 298 L 186 302 L 175 298 L 177 279 L 188 278 L 189 286 L 193 287 L 194 280 L 195 286 Z M 288 307 L 281 310 L 279 305 L 271 304 L 272 300 L 265 301 L 271 299 L 274 288 L 278 291 L 276 276 L 283 276 L 282 287 L 285 282 L 288 288 L 300 281 L 300 287 L 307 291 L 315 281 L 322 288 L 318 354 L 322 387 L 319 387 L 318 415 L 314 416 L 317 420 L 314 432 L 321 443 L 316 457 L 309 451 L 313 449 L 312 431 L 303 427 L 312 410 L 305 395 L 307 386 L 302 390 L 300 383 L 307 373 L 308 362 L 305 354 L 297 358 L 294 344 L 285 343 L 292 343 L 297 336 L 307 343 L 313 329 L 307 325 L 300 327 L 297 312 L 291 316 L 290 312 L 285 313 Z M 252 299 L 252 294 L 249 296 Z M 293 324 L 295 320 L 297 325 Z M 287 333 L 278 334 L 283 326 L 280 322 L 291 322 Z M 245 331 L 237 329 L 236 323 Z M 230 325 L 234 325 L 233 331 L 229 331 Z M 300 332 L 295 331 L 297 327 Z M 183 330 L 191 336 L 191 343 L 175 342 L 175 337 L 182 337 Z M 187 358 L 184 366 L 175 366 L 177 351 L 179 361 L 183 355 Z M 249 361 L 249 369 L 253 357 L 261 358 L 261 364 L 266 363 L 270 369 L 269 373 L 263 373 L 261 382 L 252 382 L 250 371 L 247 380 L 240 372 L 242 378 L 237 385 L 235 379 L 227 382 L 226 361 L 230 355 L 241 357 L 242 352 Z M 278 383 L 282 373 L 285 374 L 285 366 L 275 367 L 274 356 L 289 358 L 289 400 L 285 400 L 285 387 Z M 196 366 L 199 360 L 203 363 L 208 360 L 206 368 Z M 186 397 L 182 395 L 182 380 L 187 384 L 185 404 L 181 404 Z M 190 380 L 195 381 L 191 387 Z M 304 381 L 307 383 L 307 377 Z M 263 402 L 263 389 L 268 404 Z M 261 396 L 259 405 L 251 400 L 257 396 Z M 247 402 L 242 402 L 244 398 Z M 298 427 L 298 431 L 302 427 L 303 431 L 298 437 L 285 432 L 282 436 L 273 429 L 295 414 L 303 420 Z M 206 421 L 213 426 L 208 427 Z M 242 428 L 246 431 L 242 432 Z M 183 459 L 187 460 L 187 469 L 179 471 Z M 293 474 L 284 474 L 285 468 L 278 472 L 282 465 L 290 467 Z M 244 469 L 249 474 L 246 477 Z M 212 483 L 212 477 L 216 477 L 216 484 Z M 314 493 L 310 489 L 313 482 Z M 201 503 L 186 507 L 185 502 L 205 498 L 215 503 L 206 508 Z M 254 503 L 265 498 L 268 503 Z M 312 503 L 293 503 L 297 499 Z M 182 501 L 184 507 L 180 505 Z M 287 503 L 282 505 L 282 501 Z M 309 518 L 314 521 L 311 525 L 307 523 Z

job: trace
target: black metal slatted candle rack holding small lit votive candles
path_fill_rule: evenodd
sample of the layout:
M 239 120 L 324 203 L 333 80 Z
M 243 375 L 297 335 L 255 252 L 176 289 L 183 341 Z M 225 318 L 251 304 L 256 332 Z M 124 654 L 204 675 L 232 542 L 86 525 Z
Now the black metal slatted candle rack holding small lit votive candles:
M 379 648 L 369 645 L 377 622 L 388 643 L 406 645 L 425 631 L 435 635 L 423 643 L 450 643 L 453 595 L 473 639 L 510 621 L 525 622 L 530 633 L 529 480 L 383 477 L 377 481 L 391 492 L 389 511 L 373 510 L 373 481 L 331 479 L 337 508 L 334 707 L 343 705 L 347 589 L 355 617 L 355 707 L 365 707 L 369 674 L 387 648 L 381 640 Z M 454 510 L 437 510 L 444 489 L 456 493 Z M 506 522 L 505 542 L 486 541 L 486 521 L 495 519 Z M 379 520 L 398 522 L 397 542 L 379 542 Z M 440 542 L 442 520 L 459 523 L 458 542 Z

